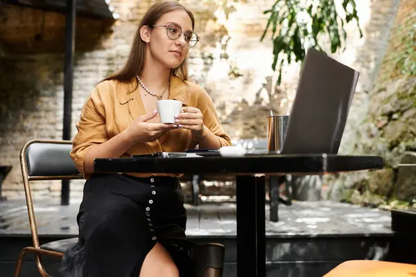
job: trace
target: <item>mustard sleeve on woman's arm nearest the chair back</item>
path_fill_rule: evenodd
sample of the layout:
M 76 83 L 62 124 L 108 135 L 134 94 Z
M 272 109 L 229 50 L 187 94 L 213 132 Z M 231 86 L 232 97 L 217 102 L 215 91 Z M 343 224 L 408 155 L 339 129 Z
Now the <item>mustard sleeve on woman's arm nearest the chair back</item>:
M 89 149 L 94 145 L 108 140 L 105 128 L 105 109 L 98 89 L 94 89 L 87 98 L 76 123 L 77 134 L 72 141 L 71 159 L 74 161 L 78 171 L 85 177 L 84 162 Z

